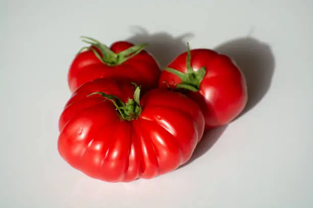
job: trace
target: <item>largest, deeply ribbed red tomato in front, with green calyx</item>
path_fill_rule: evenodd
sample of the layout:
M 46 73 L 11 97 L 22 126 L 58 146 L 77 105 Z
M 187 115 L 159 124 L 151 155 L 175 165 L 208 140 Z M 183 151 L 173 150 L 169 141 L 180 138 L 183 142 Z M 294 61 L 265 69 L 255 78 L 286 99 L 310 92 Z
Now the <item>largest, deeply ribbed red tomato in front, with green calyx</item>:
M 59 118 L 58 151 L 96 179 L 153 178 L 186 163 L 204 133 L 198 105 L 186 95 L 97 79 L 79 87 Z

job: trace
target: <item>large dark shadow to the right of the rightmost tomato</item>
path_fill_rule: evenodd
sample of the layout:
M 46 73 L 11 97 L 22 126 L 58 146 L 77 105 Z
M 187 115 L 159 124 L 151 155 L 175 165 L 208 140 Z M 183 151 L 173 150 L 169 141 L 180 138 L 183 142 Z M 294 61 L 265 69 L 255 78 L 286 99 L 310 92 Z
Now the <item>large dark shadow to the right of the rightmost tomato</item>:
M 255 38 L 244 37 L 214 49 L 234 59 L 247 80 L 248 102 L 241 113 L 243 115 L 255 107 L 270 89 L 275 69 L 271 46 Z

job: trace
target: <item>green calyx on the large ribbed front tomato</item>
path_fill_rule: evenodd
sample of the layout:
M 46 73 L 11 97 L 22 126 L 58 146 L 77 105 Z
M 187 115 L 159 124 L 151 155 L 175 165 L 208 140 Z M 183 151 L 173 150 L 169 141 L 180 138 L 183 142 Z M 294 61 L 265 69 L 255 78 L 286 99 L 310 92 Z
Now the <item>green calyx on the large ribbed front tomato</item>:
M 118 97 L 106 94 L 104 92 L 94 92 L 88 96 L 100 94 L 102 97 L 105 97 L 106 99 L 113 102 L 116 110 L 119 112 L 123 119 L 131 121 L 133 119 L 137 119 L 142 111 L 142 108 L 140 106 L 140 87 L 138 87 L 137 85 L 135 86 L 136 89 L 133 93 L 133 99 L 128 99 L 126 103 L 120 100 Z

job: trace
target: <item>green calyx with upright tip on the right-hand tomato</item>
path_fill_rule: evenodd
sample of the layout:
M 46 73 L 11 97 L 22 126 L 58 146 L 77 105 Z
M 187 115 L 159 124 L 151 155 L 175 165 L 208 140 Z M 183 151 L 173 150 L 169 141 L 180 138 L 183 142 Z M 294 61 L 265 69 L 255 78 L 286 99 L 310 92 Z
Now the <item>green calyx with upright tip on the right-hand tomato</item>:
M 165 71 L 173 73 L 180 77 L 182 80 L 181 84 L 176 85 L 177 88 L 183 88 L 187 90 L 191 90 L 193 92 L 199 91 L 200 83 L 204 79 L 206 75 L 206 67 L 201 67 L 199 70 L 194 71 L 191 67 L 191 55 L 189 43 L 187 43 L 187 58 L 186 58 L 186 66 L 187 72 L 181 72 L 172 68 L 165 68 Z

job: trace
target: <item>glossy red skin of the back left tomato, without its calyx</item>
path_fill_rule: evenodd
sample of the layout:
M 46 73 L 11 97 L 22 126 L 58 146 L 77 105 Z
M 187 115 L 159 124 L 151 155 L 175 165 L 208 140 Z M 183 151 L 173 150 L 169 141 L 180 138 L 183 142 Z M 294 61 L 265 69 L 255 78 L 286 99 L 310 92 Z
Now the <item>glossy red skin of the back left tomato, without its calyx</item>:
M 110 49 L 118 54 L 131 46 L 133 46 L 132 43 L 118 41 L 113 43 Z M 101 54 L 95 46 L 92 48 Z M 142 50 L 120 65 L 109 66 L 98 59 L 93 50 L 87 49 L 79 53 L 73 60 L 68 73 L 68 84 L 71 92 L 74 92 L 86 82 L 99 78 L 110 78 L 135 82 L 143 89 L 150 89 L 158 86 L 160 73 L 158 62 L 146 50 Z

